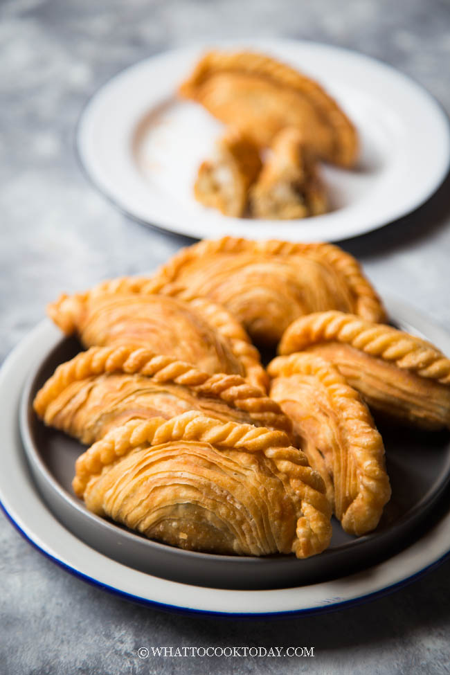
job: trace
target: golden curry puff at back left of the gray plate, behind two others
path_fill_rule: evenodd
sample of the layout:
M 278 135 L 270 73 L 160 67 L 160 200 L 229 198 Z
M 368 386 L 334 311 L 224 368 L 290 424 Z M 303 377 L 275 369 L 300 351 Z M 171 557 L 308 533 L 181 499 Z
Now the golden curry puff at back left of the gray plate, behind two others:
M 48 314 L 86 347 L 130 345 L 177 357 L 213 374 L 235 373 L 262 388 L 267 375 L 249 336 L 229 312 L 207 298 L 170 298 L 145 277 L 106 281 L 60 298 Z

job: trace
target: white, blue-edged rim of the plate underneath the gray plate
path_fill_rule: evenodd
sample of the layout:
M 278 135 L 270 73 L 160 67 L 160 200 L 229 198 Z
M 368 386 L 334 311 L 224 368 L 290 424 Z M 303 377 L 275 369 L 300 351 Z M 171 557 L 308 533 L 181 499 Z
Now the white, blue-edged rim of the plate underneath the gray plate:
M 443 342 L 449 344 L 450 335 L 444 329 L 436 326 L 433 321 L 428 321 L 422 314 L 416 312 L 405 305 L 405 303 L 397 300 L 390 301 L 389 307 L 393 312 L 402 314 L 406 323 L 418 323 L 418 330 L 421 326 L 425 327 L 429 337 L 436 343 Z M 84 579 L 91 584 L 107 591 L 127 597 L 134 602 L 141 602 L 151 606 L 159 606 L 160 609 L 168 611 L 178 611 L 180 613 L 206 613 L 210 615 L 235 616 L 240 618 L 248 617 L 277 617 L 283 615 L 308 614 L 319 613 L 321 611 L 332 611 L 333 609 L 340 609 L 344 606 L 351 606 L 366 602 L 372 598 L 386 595 L 396 588 L 402 587 L 414 579 L 426 573 L 426 571 L 435 568 L 441 564 L 445 559 L 450 557 L 450 511 L 445 514 L 442 519 L 433 528 L 426 532 L 420 539 L 415 541 L 411 546 L 391 557 L 387 561 L 379 565 L 368 568 L 370 572 L 369 583 L 361 579 L 364 573 L 357 573 L 349 577 L 340 577 L 334 582 L 323 582 L 321 584 L 312 584 L 310 586 L 303 586 L 298 588 L 282 588 L 273 591 L 224 591 L 216 588 L 201 588 L 199 586 L 190 586 L 188 584 L 180 584 L 178 582 L 169 582 L 166 579 L 159 579 L 152 577 L 145 573 L 140 573 L 136 570 L 131 570 L 123 564 L 111 561 L 104 555 L 89 548 L 89 546 L 82 543 L 73 534 L 65 530 L 64 526 L 55 519 L 48 508 L 42 502 L 40 497 L 37 497 L 36 488 L 30 478 L 28 467 L 25 463 L 24 452 L 21 449 L 18 430 L 18 402 L 21 395 L 21 390 L 24 381 L 28 375 L 30 363 L 33 363 L 35 358 L 39 358 L 39 350 L 44 350 L 48 336 L 55 335 L 57 329 L 47 319 L 39 323 L 20 343 L 17 345 L 7 357 L 6 361 L 0 370 L 0 393 L 8 390 L 8 397 L 6 397 L 5 407 L 6 414 L 0 419 L 0 430 L 2 438 L 9 439 L 9 444 L 6 442 L 6 463 L 9 463 L 15 469 L 16 475 L 10 480 L 8 471 L 0 474 L 0 503 L 1 507 L 8 519 L 12 521 L 15 527 L 21 534 L 30 541 L 36 548 L 38 548 L 44 555 L 51 558 L 55 563 L 62 566 L 67 571 Z M 431 336 L 430 336 L 431 333 Z M 47 345 L 48 348 L 48 345 Z M 17 450 L 19 449 L 19 452 Z M 12 463 L 11 463 L 12 462 Z M 19 482 L 22 487 L 28 490 L 29 495 L 34 494 L 35 501 L 40 505 L 40 515 L 44 514 L 47 521 L 51 519 L 52 528 L 57 531 L 58 536 L 66 541 L 75 544 L 75 550 L 64 551 L 64 543 L 61 543 L 63 552 L 55 549 L 55 543 L 50 541 L 48 543 L 48 532 L 45 531 L 45 523 L 39 521 L 41 530 L 33 530 L 33 522 L 30 525 L 30 515 L 26 512 L 24 505 L 24 494 L 16 495 L 14 498 L 14 481 Z M 25 517 L 24 517 L 25 510 Z M 28 523 L 27 523 L 28 518 Z M 35 523 L 34 523 L 35 525 Z M 43 530 L 43 531 L 42 531 Z M 428 541 L 429 546 L 423 546 L 424 541 Z M 58 546 L 60 541 L 58 540 Z M 84 555 L 80 555 L 84 553 Z M 78 553 L 78 555 L 76 555 Z M 87 555 L 89 553 L 89 555 Z M 89 570 L 87 557 L 92 557 L 94 561 L 102 562 L 102 565 L 96 566 L 96 575 L 92 575 Z M 81 560 L 81 562 L 80 562 Z M 406 566 L 408 571 L 405 573 L 403 564 L 409 560 Z M 98 572 L 100 569 L 100 573 Z M 120 582 L 115 580 L 114 584 L 109 583 L 108 576 L 111 570 L 118 574 Z M 399 572 L 399 570 L 403 570 Z M 388 575 L 389 579 L 384 579 L 383 575 Z M 147 582 L 146 593 L 130 593 L 127 590 L 127 584 L 124 579 L 120 577 L 128 577 L 128 582 L 132 577 L 139 579 L 141 585 L 139 588 L 145 588 Z M 379 578 L 381 575 L 381 578 Z M 136 581 L 136 579 L 134 579 Z M 156 582 L 156 584 L 155 584 Z M 124 585 L 125 584 L 125 585 Z M 362 584 L 362 587 L 361 587 Z M 165 597 L 168 602 L 161 602 L 161 597 L 158 594 L 155 596 L 156 585 L 159 590 L 163 589 L 164 593 L 168 592 L 169 597 Z M 341 587 L 341 588 L 340 588 Z M 129 585 L 128 585 L 129 588 Z M 340 588 L 340 590 L 339 590 Z M 357 589 L 354 593 L 349 592 L 352 589 Z M 175 597 L 177 602 L 170 601 L 170 593 Z M 287 595 L 289 593 L 289 595 Z M 340 595 L 336 595 L 340 593 Z M 188 602 L 183 600 L 179 602 L 184 595 L 189 595 Z M 346 597 L 345 597 L 346 594 Z M 161 593 L 159 593 L 161 596 Z M 202 598 L 203 602 L 198 602 L 199 595 L 205 595 Z M 282 609 L 282 605 L 289 596 L 296 596 L 295 603 L 297 606 L 289 606 L 288 609 Z M 305 600 L 306 595 L 309 595 L 310 600 Z M 314 597 L 312 602 L 311 597 Z M 211 600 L 212 598 L 212 600 Z M 267 604 L 269 600 L 269 604 Z M 300 602 L 303 600 L 303 602 Z M 253 611 L 245 611 L 245 604 L 252 604 L 255 608 Z M 298 603 L 300 602 L 300 606 Z M 305 604 L 306 602 L 306 604 Z M 196 605 L 197 603 L 197 605 Z M 263 606 L 261 606 L 263 603 Z M 264 604 L 265 603 L 265 604 Z M 235 611 L 235 604 L 240 605 L 240 611 Z M 291 602 L 289 603 L 291 604 Z M 263 607 L 265 606 L 265 609 Z M 281 608 L 281 609 L 280 609 Z M 247 608 L 248 609 L 248 608 Z

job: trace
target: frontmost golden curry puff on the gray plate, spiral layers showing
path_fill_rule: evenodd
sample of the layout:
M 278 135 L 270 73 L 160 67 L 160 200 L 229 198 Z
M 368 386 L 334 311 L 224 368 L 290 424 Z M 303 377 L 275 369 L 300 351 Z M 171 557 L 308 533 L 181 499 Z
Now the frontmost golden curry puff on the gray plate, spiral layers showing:
M 78 458 L 73 489 L 94 513 L 188 550 L 305 558 L 331 537 L 323 480 L 284 433 L 201 413 L 114 429 Z

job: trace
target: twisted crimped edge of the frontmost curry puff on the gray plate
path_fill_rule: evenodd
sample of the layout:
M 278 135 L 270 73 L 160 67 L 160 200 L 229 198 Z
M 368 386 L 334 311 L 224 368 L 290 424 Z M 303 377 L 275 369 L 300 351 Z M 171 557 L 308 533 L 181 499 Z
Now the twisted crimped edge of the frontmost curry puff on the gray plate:
M 296 538 L 291 550 L 299 558 L 322 552 L 330 543 L 331 507 L 325 496 L 325 486 L 318 473 L 309 466 L 303 451 L 291 447 L 282 431 L 236 422 L 219 422 L 202 413 L 188 411 L 171 420 L 130 420 L 113 429 L 94 443 L 76 462 L 73 479 L 75 494 L 82 497 L 89 480 L 100 476 L 102 470 L 135 448 L 150 447 L 172 441 L 206 442 L 213 446 L 262 452 L 271 459 L 280 478 L 294 490 L 298 501 Z

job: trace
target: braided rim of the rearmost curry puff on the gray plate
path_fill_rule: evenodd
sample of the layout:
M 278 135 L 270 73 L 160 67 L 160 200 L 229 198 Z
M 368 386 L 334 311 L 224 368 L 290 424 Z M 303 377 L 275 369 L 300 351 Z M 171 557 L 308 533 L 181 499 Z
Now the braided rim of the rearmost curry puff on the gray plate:
M 255 253 L 255 255 L 296 256 L 307 255 L 309 252 L 318 253 L 323 261 L 332 267 L 341 276 L 350 289 L 355 309 L 361 316 L 373 321 L 386 321 L 387 314 L 381 298 L 370 281 L 364 276 L 361 265 L 350 253 L 346 253 L 339 246 L 324 242 L 283 242 L 282 240 L 250 240 L 244 237 L 226 236 L 218 240 L 201 240 L 192 246 L 186 246 L 161 265 L 152 277 L 152 287 L 155 292 L 170 295 L 189 296 L 189 288 L 182 285 L 177 287 L 177 276 L 181 269 L 190 262 L 201 260 L 203 256 L 220 253 Z M 169 289 L 166 286 L 173 285 Z

